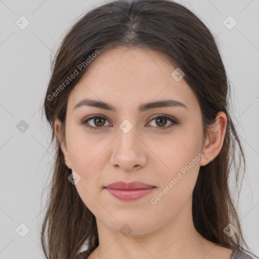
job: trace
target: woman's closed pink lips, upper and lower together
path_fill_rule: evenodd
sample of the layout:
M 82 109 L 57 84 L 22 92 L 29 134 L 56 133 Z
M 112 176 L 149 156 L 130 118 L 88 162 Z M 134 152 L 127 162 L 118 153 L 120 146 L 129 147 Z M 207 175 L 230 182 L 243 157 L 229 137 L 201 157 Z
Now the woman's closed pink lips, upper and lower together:
M 104 188 L 119 200 L 134 201 L 151 193 L 156 187 L 142 182 L 125 183 L 119 181 Z

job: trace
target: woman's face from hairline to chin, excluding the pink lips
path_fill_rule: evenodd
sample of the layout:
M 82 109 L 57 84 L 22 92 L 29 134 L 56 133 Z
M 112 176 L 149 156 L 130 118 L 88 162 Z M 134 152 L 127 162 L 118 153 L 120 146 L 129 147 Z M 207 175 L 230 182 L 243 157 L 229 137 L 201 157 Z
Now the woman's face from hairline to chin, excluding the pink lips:
M 66 164 L 81 178 L 75 188 L 84 204 L 98 223 L 114 231 L 130 226 L 132 234 L 145 234 L 183 211 L 191 217 L 192 191 L 204 159 L 201 110 L 193 90 L 184 78 L 171 75 L 176 68 L 165 60 L 147 49 L 103 52 L 68 98 Z M 77 105 L 83 99 L 114 110 Z M 165 100 L 182 105 L 145 106 Z M 116 181 L 155 188 L 138 199 L 121 200 L 104 188 Z

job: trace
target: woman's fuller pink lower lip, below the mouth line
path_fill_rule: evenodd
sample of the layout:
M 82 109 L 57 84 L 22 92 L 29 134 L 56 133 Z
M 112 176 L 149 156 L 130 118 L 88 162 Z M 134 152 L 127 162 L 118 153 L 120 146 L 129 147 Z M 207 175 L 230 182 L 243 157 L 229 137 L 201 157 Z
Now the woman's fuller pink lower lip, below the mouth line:
M 148 188 L 148 189 L 136 189 L 136 190 L 117 190 L 117 189 L 109 189 L 105 188 L 112 196 L 119 200 L 137 200 L 141 197 L 149 194 L 152 192 L 155 187 Z

